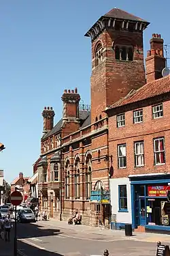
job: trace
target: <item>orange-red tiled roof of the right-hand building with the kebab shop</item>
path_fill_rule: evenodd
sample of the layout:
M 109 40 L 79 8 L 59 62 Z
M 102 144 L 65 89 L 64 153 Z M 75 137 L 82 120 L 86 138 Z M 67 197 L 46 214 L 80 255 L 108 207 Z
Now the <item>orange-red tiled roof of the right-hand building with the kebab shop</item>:
M 150 83 L 146 83 L 136 91 L 133 91 L 131 94 L 126 95 L 124 98 L 121 98 L 115 102 L 112 106 L 109 106 L 109 109 L 116 109 L 119 106 L 124 106 L 141 100 L 146 100 L 148 98 L 153 98 L 161 94 L 166 94 L 170 92 L 170 75 L 165 76 L 162 79 L 157 79 Z

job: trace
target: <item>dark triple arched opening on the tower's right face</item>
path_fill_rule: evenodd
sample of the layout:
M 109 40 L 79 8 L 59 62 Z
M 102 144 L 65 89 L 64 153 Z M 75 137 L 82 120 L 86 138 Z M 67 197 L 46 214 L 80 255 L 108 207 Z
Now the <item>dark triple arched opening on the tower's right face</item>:
M 120 61 L 133 61 L 133 47 L 116 45 L 115 59 L 118 59 Z

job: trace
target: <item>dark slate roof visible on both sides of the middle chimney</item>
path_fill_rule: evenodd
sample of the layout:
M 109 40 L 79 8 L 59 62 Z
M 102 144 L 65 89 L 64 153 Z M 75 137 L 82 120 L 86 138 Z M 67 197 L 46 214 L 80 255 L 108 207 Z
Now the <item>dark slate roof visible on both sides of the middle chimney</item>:
M 80 129 L 85 128 L 86 126 L 90 125 L 91 120 L 90 120 L 90 111 L 86 110 L 80 110 L 79 111 L 79 116 L 80 116 Z M 61 126 L 63 124 L 63 119 L 58 121 L 58 123 L 54 126 L 52 130 L 44 134 L 44 136 L 41 139 L 46 139 L 50 137 L 51 135 L 59 132 L 61 130 Z

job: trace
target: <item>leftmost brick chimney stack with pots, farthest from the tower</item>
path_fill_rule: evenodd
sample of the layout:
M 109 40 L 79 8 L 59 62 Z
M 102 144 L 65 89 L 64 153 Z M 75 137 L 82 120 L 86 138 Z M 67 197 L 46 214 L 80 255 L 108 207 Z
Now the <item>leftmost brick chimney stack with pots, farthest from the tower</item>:
M 52 107 L 45 106 L 44 111 L 42 112 L 42 116 L 44 117 L 44 128 L 43 132 L 46 133 L 49 130 L 52 130 L 54 126 L 54 111 L 52 110 Z

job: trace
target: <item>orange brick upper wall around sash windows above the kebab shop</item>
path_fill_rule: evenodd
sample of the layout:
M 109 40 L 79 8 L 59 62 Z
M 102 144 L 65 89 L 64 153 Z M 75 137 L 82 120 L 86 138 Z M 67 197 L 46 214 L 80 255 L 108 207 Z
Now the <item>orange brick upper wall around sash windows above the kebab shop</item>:
M 154 100 L 153 100 L 154 102 Z M 155 102 L 156 103 L 156 102 Z M 142 107 L 142 104 L 141 104 Z M 128 108 L 128 107 L 126 107 Z M 127 177 L 130 174 L 159 173 L 170 167 L 170 101 L 163 102 L 163 117 L 152 119 L 152 105 L 143 106 L 143 122 L 133 124 L 133 110 L 126 109 L 125 126 L 116 127 L 116 115 L 109 118 L 109 154 L 113 155 L 114 176 Z M 134 107 L 135 109 L 135 107 Z M 138 106 L 139 109 L 139 106 Z M 140 108 L 141 109 L 141 108 Z M 112 127 L 112 128 L 111 128 Z M 156 137 L 165 137 L 165 165 L 154 165 L 154 143 Z M 134 142 L 144 141 L 145 166 L 135 167 Z M 117 145 L 126 143 L 126 168 L 118 169 Z

